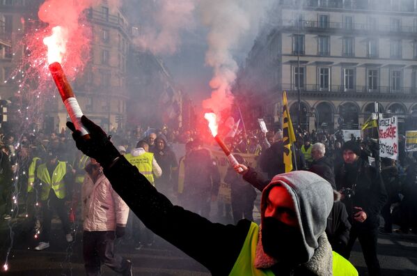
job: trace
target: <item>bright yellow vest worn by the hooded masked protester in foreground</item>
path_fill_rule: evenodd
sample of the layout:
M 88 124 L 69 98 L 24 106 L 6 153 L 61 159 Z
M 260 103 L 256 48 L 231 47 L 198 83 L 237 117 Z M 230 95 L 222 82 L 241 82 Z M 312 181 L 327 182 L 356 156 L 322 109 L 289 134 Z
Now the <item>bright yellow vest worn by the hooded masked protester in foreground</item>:
M 237 257 L 235 266 L 230 271 L 230 276 L 274 276 L 272 270 L 258 269 L 253 266 L 255 262 L 256 245 L 258 245 L 259 227 L 251 223 L 246 240 Z M 349 263 L 343 256 L 333 252 L 333 275 L 334 276 L 357 276 L 358 271 L 352 263 Z

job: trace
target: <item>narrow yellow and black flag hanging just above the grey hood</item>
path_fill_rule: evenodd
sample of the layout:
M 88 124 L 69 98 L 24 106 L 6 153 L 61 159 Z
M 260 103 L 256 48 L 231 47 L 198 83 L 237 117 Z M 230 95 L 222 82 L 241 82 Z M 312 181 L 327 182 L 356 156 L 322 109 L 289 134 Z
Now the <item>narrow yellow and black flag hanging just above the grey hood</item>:
M 285 172 L 292 171 L 292 150 L 291 145 L 295 141 L 294 128 L 288 109 L 287 93 L 283 92 L 283 142 L 284 142 L 284 164 Z

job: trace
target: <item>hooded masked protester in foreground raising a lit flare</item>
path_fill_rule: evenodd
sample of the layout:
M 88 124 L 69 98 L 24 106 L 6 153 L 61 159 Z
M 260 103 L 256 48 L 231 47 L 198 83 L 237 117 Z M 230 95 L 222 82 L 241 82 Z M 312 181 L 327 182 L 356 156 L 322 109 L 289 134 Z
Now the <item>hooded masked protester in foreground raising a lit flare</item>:
M 249 220 L 214 223 L 173 206 L 99 126 L 86 116 L 81 122 L 91 139 L 67 123 L 77 148 L 102 164 L 113 189 L 149 229 L 212 275 L 358 275 L 349 261 L 332 252 L 326 238 L 333 189 L 320 176 L 309 171 L 275 176 L 262 192 L 260 227 Z

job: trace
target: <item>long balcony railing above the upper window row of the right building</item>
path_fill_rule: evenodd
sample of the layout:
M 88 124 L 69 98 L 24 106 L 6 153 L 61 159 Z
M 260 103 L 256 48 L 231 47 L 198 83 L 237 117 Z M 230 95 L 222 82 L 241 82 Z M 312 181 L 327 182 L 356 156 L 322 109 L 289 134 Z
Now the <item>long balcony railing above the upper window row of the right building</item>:
M 352 23 L 352 22 L 320 22 L 315 20 L 285 20 L 283 28 L 304 29 L 306 31 L 363 31 L 384 33 L 415 33 L 417 26 L 391 26 L 383 24 Z

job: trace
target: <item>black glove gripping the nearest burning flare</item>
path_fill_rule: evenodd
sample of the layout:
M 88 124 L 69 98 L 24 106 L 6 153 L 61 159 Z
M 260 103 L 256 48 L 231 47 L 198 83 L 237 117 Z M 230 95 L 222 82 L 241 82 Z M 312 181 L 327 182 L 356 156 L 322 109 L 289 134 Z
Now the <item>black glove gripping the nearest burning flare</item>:
M 120 156 L 117 148 L 113 146 L 106 132 L 86 116 L 81 117 L 81 123 L 90 133 L 89 139 L 82 137 L 81 132 L 75 129 L 72 122 L 67 122 L 67 127 L 72 130 L 72 138 L 75 140 L 77 148 L 85 155 L 97 160 L 103 168 L 109 167 Z

